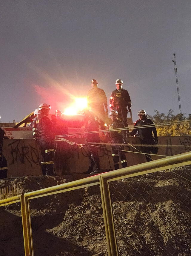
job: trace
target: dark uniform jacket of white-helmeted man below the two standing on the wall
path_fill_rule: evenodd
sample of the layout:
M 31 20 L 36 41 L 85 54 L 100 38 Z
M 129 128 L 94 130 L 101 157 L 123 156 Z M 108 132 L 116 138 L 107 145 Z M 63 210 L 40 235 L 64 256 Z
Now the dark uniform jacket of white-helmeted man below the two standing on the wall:
M 125 130 L 112 131 L 113 129 L 117 128 L 124 128 L 124 124 L 120 120 L 115 119 L 115 121 L 109 125 L 109 131 L 111 132 L 107 132 L 106 141 L 110 140 L 111 142 L 115 143 L 126 143 Z

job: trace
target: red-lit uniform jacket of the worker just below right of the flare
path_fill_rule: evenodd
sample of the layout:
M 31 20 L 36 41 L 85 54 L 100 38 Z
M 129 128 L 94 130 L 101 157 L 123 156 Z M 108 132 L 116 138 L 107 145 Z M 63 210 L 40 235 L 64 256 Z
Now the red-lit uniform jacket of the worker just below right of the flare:
M 95 118 L 90 115 L 89 118 L 87 118 L 86 125 L 85 125 L 85 132 L 93 132 L 98 131 L 98 121 L 95 120 Z M 86 142 L 100 142 L 99 133 L 87 133 L 86 134 Z

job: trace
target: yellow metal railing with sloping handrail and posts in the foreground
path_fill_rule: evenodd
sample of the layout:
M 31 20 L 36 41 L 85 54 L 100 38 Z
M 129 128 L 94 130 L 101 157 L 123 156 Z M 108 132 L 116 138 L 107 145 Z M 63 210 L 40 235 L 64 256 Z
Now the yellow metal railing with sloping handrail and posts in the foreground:
M 182 153 L 163 159 L 158 159 L 152 162 L 134 165 L 127 168 L 98 174 L 93 177 L 87 177 L 81 180 L 76 180 L 61 185 L 28 192 L 12 198 L 7 198 L 0 201 L 0 206 L 21 202 L 25 255 L 32 256 L 34 255 L 34 252 L 29 201 L 34 198 L 72 191 L 75 189 L 81 189 L 94 185 L 100 185 L 108 255 L 117 256 L 118 248 L 113 221 L 109 182 L 190 164 L 191 152 Z

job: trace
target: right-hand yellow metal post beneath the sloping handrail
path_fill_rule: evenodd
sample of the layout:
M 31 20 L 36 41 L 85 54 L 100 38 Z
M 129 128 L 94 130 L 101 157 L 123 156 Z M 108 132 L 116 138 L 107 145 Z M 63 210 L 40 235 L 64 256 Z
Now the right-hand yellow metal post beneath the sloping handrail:
M 112 211 L 112 204 L 110 198 L 110 191 L 107 182 L 107 178 L 104 179 L 102 175 L 99 177 L 100 179 L 100 188 L 101 188 L 101 199 L 104 201 L 103 211 L 104 211 L 104 222 L 106 228 L 106 237 L 107 243 L 109 243 L 108 250 L 110 253 L 109 255 L 118 256 L 118 249 L 117 249 L 117 240 L 115 236 L 115 227 L 113 222 L 113 211 Z

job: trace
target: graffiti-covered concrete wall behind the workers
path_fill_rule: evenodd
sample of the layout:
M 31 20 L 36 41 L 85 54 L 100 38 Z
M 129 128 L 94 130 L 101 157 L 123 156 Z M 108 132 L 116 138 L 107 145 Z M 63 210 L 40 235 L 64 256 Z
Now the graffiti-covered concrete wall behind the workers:
M 74 142 L 84 144 L 84 138 L 72 139 Z M 138 137 L 129 137 L 129 143 L 140 144 Z M 191 136 L 159 137 L 159 155 L 172 156 L 191 150 Z M 124 150 L 128 166 L 146 162 L 143 154 L 135 153 L 131 146 L 125 146 Z M 4 156 L 8 162 L 8 177 L 41 175 L 40 153 L 34 139 L 11 139 L 4 140 Z M 102 169 L 113 169 L 113 159 L 110 147 L 99 149 L 100 165 Z M 159 159 L 161 156 L 152 156 Z M 57 175 L 66 173 L 83 173 L 89 166 L 88 150 L 84 146 L 72 147 L 66 142 L 57 141 L 55 152 L 55 171 Z

